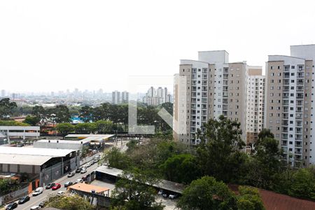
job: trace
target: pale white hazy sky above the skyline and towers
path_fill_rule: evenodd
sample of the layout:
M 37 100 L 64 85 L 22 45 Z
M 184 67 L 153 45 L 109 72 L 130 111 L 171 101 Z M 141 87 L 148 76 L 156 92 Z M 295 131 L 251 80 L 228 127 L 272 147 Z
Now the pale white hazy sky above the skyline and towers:
M 314 9 L 315 1 L 0 1 L 0 90 L 125 90 L 129 76 L 178 73 L 179 59 L 198 50 L 264 65 L 290 45 L 315 43 Z

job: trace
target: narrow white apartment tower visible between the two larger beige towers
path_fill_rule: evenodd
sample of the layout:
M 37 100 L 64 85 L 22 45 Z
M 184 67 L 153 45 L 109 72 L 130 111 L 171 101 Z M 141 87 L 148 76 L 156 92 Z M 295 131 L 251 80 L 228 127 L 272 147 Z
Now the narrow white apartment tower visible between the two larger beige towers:
M 264 128 L 265 76 L 262 66 L 248 66 L 246 96 L 246 144 L 253 144 Z

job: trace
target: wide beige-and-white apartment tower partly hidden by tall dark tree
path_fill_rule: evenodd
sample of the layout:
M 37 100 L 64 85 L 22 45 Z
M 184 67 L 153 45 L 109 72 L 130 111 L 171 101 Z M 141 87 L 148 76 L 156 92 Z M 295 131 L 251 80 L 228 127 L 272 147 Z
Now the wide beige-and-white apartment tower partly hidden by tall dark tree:
M 223 115 L 246 131 L 246 62 L 228 62 L 228 52 L 199 52 L 198 60 L 181 60 L 174 87 L 174 139 L 199 144 L 197 130 Z M 185 89 L 185 90 L 184 90 Z M 246 132 L 242 137 L 246 141 Z

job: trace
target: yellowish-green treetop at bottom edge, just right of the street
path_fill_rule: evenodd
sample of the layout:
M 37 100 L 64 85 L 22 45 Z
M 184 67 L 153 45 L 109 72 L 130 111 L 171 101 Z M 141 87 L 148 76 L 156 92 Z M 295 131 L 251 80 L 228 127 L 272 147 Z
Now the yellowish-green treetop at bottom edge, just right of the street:
M 63 210 L 94 210 L 90 202 L 78 195 L 55 195 L 48 197 L 45 207 Z

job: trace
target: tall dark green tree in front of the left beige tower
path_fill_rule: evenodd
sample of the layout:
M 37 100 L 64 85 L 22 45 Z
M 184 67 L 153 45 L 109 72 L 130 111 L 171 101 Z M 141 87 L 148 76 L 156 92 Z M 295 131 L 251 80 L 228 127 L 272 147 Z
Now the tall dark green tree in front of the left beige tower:
M 223 181 L 238 179 L 238 171 L 246 160 L 239 152 L 244 146 L 241 140 L 240 124 L 223 116 L 210 119 L 204 125 L 205 133 L 197 135 L 202 143 L 197 148 L 197 160 L 204 175 L 214 176 Z

